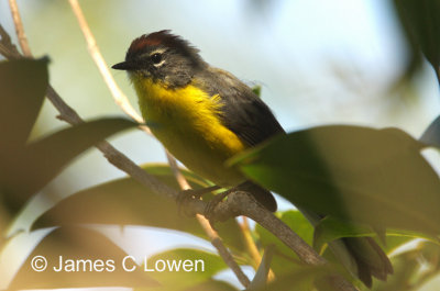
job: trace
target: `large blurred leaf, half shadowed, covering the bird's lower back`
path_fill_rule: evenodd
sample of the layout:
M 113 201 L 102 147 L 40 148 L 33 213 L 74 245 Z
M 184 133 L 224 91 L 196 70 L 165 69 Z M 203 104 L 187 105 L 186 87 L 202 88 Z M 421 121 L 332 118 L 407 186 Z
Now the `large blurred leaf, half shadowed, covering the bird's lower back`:
M 299 208 L 437 235 L 440 180 L 421 148 L 397 128 L 334 125 L 278 136 L 230 164 Z

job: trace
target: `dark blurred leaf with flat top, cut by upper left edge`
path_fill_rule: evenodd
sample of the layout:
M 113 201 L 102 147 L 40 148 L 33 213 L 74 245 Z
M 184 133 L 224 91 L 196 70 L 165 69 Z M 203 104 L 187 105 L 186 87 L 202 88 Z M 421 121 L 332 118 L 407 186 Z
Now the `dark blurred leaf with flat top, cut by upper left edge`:
M 0 158 L 21 149 L 43 104 L 48 85 L 47 58 L 0 63 Z

